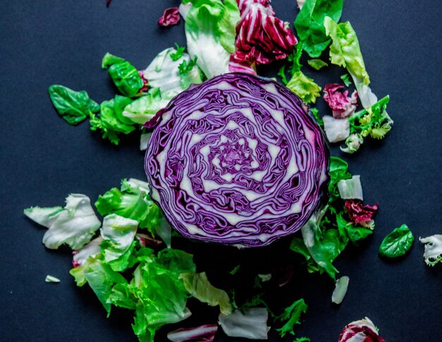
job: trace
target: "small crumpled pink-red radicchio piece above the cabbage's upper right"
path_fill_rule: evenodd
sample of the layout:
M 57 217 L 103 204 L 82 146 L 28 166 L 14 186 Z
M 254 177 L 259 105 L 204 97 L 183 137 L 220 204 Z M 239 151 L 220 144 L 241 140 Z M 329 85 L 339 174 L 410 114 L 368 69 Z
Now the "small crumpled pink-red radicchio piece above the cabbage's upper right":
M 357 92 L 354 91 L 352 96 L 348 96 L 348 90 L 341 93 L 343 89 L 338 83 L 326 84 L 324 87 L 324 100 L 333 110 L 333 117 L 343 119 L 354 114 L 357 107 Z

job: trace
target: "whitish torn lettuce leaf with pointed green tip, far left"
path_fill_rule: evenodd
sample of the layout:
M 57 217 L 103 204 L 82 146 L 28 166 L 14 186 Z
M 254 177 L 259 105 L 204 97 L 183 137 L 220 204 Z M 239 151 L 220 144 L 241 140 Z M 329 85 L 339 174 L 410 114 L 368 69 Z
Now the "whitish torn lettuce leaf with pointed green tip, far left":
M 70 194 L 66 206 L 61 208 L 27 208 L 25 216 L 48 228 L 43 243 L 49 249 L 57 249 L 68 244 L 72 249 L 80 249 L 90 242 L 95 231 L 100 228 L 100 220 L 90 205 L 90 199 L 83 194 Z

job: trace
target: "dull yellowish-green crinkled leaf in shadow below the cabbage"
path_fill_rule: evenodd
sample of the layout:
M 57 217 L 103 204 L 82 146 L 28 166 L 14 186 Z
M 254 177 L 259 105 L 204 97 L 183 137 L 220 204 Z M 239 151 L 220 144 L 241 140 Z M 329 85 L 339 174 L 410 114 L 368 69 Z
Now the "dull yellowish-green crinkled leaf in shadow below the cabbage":
M 197 300 L 213 307 L 219 305 L 222 314 L 232 313 L 229 295 L 225 290 L 220 290 L 210 284 L 205 272 L 184 273 L 180 277 L 184 281 L 186 290 Z

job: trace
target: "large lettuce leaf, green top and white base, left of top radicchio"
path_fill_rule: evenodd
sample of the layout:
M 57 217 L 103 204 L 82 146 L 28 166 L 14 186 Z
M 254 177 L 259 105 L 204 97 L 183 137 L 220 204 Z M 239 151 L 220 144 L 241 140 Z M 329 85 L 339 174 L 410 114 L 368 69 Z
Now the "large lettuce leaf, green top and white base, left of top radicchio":
M 229 72 L 239 9 L 235 0 L 192 0 L 186 14 L 187 49 L 207 78 Z

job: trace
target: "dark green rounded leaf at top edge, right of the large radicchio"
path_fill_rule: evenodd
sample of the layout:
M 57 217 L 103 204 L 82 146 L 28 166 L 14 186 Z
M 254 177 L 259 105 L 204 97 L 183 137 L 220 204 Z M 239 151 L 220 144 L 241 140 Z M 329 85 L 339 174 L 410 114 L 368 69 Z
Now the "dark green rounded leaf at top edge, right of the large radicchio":
M 342 0 L 306 0 L 294 21 L 299 40 L 312 58 L 321 56 L 330 44 L 325 34 L 324 18 L 329 16 L 336 22 L 342 14 Z

